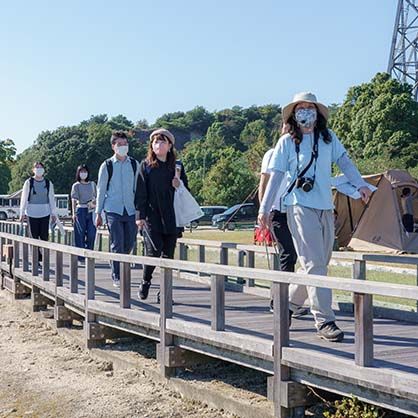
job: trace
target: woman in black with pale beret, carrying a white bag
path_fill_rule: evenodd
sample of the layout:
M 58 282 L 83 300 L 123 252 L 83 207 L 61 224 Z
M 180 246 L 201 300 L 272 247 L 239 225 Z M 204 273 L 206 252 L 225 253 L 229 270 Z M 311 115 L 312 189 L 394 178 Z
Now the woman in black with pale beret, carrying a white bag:
M 138 227 L 143 231 L 145 255 L 174 258 L 177 238 L 181 230 L 176 226 L 174 192 L 182 181 L 188 187 L 183 165 L 176 162 L 174 135 L 157 129 L 150 135 L 148 154 L 141 162 L 136 188 Z M 140 299 L 147 299 L 154 266 L 144 266 L 139 288 Z

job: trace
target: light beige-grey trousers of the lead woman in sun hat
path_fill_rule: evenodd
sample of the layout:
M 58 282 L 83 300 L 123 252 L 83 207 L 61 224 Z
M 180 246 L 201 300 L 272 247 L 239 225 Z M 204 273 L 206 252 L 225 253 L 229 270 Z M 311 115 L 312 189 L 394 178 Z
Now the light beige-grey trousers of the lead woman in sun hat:
M 299 272 L 326 276 L 335 235 L 333 211 L 306 206 L 288 206 L 287 222 L 301 265 Z M 296 310 L 307 298 L 317 328 L 327 322 L 335 321 L 331 308 L 331 289 L 289 286 L 290 309 Z

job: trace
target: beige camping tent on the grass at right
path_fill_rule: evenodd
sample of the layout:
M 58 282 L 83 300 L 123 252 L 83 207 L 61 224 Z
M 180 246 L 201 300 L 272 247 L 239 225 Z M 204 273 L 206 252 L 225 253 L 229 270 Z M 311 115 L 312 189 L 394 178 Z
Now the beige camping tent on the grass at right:
M 400 203 L 402 189 L 409 187 L 414 196 L 414 222 L 417 223 L 417 181 L 403 170 L 389 170 L 364 179 L 377 187 L 367 206 L 360 199 L 339 192 L 334 195 L 338 245 L 355 251 L 418 253 L 418 232 L 406 232 Z

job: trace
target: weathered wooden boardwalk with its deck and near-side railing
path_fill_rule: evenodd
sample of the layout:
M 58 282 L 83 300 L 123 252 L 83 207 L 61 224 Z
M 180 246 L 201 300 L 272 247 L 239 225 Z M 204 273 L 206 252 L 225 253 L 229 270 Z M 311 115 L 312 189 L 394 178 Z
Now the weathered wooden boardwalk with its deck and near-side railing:
M 54 305 L 57 326 L 75 318 L 83 320 L 88 346 L 103 343 L 106 335 L 111 335 L 109 330 L 117 329 L 159 342 L 161 370 L 167 377 L 176 367 L 187 365 L 187 353 L 192 351 L 261 370 L 272 376 L 270 395 L 275 399 L 276 416 L 291 416 L 291 411 L 303 407 L 300 400 L 292 401 L 298 398 L 295 393 L 305 390 L 303 384 L 354 394 L 418 417 L 418 324 L 373 319 L 369 297 L 377 293 L 416 299 L 418 292 L 412 286 L 379 287 L 376 283 L 329 279 L 330 287 L 352 288 L 357 295 L 356 316 L 336 312 L 344 341 L 319 339 L 311 315 L 293 319 L 287 339 L 285 290 L 291 280 L 303 283 L 306 276 L 283 278 L 286 285 L 273 282 L 276 306 L 283 307 L 273 315 L 267 298 L 245 293 L 238 286 L 238 290 L 225 288 L 225 275 L 232 276 L 234 271 L 235 277 L 272 280 L 274 272 L 154 259 L 152 263 L 161 266 L 162 273 L 157 268 L 148 300 L 140 301 L 137 291 L 142 270 L 131 268 L 131 263 L 144 262 L 144 258 L 82 252 L 90 257 L 84 267 L 77 262 L 82 250 L 48 243 L 42 245 L 47 248 L 44 264 L 49 259 L 49 269 L 36 271 L 31 261 L 37 265 L 37 248 L 25 244 L 33 244 L 33 240 L 13 239 L 4 233 L 0 237 L 3 249 L 6 238 L 14 248 L 11 258 L 2 257 L 4 286 L 16 297 L 31 293 L 34 310 Z M 123 261 L 122 289 L 112 285 L 105 261 L 110 257 Z M 178 269 L 194 274 L 183 275 Z M 324 283 L 320 276 L 311 279 Z M 156 301 L 160 285 L 161 306 Z M 274 350 L 274 342 L 280 352 Z

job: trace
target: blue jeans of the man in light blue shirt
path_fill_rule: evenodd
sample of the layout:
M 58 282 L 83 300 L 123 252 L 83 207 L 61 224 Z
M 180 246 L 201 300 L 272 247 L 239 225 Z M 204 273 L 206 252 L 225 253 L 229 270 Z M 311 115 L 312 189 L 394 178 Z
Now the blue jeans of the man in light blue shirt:
M 126 211 L 123 215 L 106 212 L 106 222 L 109 228 L 110 250 L 112 253 L 129 254 L 135 245 L 138 228 L 135 215 L 129 216 Z M 112 279 L 120 280 L 120 263 L 112 262 Z

